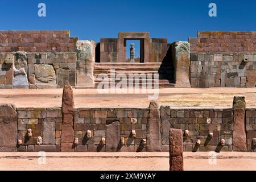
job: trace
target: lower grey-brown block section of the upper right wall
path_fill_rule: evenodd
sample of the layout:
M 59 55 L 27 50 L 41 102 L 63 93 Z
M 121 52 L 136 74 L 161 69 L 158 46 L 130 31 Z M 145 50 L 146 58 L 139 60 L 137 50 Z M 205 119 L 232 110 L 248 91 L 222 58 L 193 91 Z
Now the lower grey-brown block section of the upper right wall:
M 191 53 L 191 87 L 255 87 L 256 55 Z

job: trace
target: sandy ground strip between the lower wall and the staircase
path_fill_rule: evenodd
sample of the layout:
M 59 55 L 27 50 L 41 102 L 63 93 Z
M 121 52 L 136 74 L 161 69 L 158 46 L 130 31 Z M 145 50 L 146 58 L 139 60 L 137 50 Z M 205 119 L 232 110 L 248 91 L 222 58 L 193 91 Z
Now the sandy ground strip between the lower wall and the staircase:
M 59 107 L 63 89 L 0 90 L 0 103 L 16 107 Z M 73 89 L 76 107 L 148 107 L 152 94 L 98 93 L 97 89 Z M 160 105 L 172 107 L 232 107 L 233 97 L 246 97 L 247 107 L 256 106 L 256 88 L 159 89 Z

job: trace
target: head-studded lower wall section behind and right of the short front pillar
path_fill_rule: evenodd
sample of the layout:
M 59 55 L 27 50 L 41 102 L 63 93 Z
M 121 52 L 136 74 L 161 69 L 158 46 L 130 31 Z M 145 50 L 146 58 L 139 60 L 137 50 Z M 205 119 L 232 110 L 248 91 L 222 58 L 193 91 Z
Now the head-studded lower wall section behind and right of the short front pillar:
M 233 109 L 171 109 L 160 107 L 163 150 L 168 148 L 170 128 L 189 131 L 183 135 L 184 151 L 232 151 Z M 210 138 L 209 133 L 213 133 Z M 200 139 L 201 145 L 196 144 Z M 221 139 L 225 146 L 221 147 Z

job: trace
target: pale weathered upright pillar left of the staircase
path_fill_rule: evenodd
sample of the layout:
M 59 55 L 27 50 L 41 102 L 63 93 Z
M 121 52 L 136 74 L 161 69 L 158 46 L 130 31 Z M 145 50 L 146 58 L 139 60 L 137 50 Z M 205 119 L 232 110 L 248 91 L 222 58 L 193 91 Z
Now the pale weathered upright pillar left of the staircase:
M 95 43 L 92 40 L 77 41 L 77 71 L 76 71 L 76 86 L 85 88 L 94 87 L 93 76 L 93 47 Z

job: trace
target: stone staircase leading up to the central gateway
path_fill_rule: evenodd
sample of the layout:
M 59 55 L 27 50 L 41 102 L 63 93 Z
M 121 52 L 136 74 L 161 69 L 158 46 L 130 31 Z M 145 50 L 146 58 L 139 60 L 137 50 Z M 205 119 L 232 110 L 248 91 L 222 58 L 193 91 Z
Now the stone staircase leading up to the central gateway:
M 112 72 L 112 73 L 111 73 Z M 173 88 L 174 87 L 174 67 L 170 63 L 95 63 L 94 64 L 94 81 L 95 88 L 97 88 L 98 84 L 102 81 L 101 73 L 105 73 L 110 78 L 110 75 L 114 76 L 114 81 L 110 81 L 110 84 L 117 85 L 117 83 L 121 80 L 117 77 L 118 73 L 122 73 L 123 76 L 126 76 L 122 81 L 127 82 L 127 86 L 129 81 L 132 81 L 133 84 L 135 82 L 139 82 L 139 85 L 135 87 L 144 88 L 145 85 L 142 84 L 141 77 L 138 78 L 129 78 L 130 73 L 141 74 L 144 73 L 146 76 L 146 81 L 152 83 L 152 88 L 159 86 L 159 88 Z M 150 75 L 148 75 L 151 73 Z M 154 81 L 155 76 L 158 76 L 158 84 Z M 134 75 L 135 76 L 135 75 Z M 144 80 L 145 81 L 145 80 Z M 148 87 L 147 87 L 148 88 Z

